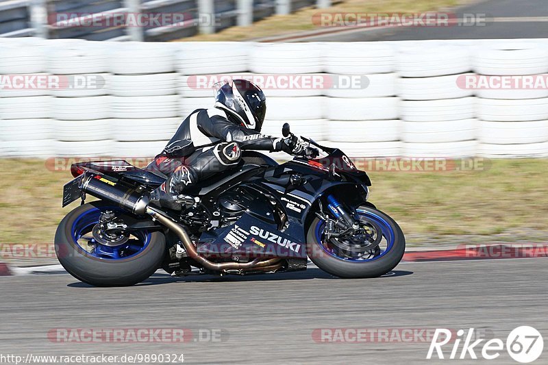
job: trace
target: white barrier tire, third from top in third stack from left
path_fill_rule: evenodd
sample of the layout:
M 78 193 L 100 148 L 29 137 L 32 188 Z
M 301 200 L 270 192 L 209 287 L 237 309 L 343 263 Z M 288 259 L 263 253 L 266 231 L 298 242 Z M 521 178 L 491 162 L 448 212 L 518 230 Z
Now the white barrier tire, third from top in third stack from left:
M 112 117 L 173 118 L 179 116 L 179 95 L 159 97 L 112 97 Z

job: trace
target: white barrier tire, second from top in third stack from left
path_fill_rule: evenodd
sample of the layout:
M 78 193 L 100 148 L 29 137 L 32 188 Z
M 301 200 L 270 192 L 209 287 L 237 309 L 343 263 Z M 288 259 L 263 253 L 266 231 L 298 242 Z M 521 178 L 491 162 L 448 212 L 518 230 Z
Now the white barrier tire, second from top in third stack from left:
M 116 97 L 153 97 L 177 93 L 177 73 L 113 75 L 110 94 Z

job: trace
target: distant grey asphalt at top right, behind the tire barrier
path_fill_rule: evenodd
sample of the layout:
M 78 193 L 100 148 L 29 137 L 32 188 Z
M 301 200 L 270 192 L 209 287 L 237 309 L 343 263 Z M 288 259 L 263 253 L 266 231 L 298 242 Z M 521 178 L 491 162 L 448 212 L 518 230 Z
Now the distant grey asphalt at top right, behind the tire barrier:
M 454 12 L 456 18 L 462 18 L 463 14 L 485 14 L 488 21 L 481 27 L 355 29 L 351 32 L 307 37 L 301 40 L 357 42 L 368 40 L 548 38 L 548 1 L 546 0 L 480 1 L 450 12 Z M 296 40 L 299 41 L 299 39 Z

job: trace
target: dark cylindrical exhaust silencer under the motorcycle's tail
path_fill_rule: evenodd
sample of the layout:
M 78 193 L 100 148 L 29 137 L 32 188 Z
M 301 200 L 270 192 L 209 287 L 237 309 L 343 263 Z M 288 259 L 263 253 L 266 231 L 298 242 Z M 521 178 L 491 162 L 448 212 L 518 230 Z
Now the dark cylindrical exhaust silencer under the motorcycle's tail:
M 132 188 L 120 181 L 111 181 L 105 175 L 86 173 L 83 179 L 82 191 L 103 200 L 114 201 L 133 214 L 145 214 L 149 205 L 149 197 L 143 195 L 142 188 Z

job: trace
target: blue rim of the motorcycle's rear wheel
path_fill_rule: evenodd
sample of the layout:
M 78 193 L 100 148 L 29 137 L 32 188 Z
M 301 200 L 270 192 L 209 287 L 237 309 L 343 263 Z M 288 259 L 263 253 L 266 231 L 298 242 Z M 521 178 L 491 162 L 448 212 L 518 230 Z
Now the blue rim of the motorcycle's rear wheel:
M 94 249 L 89 251 L 88 248 L 82 247 L 82 244 L 80 244 L 79 241 L 84 238 L 84 235 L 90 234 L 93 226 L 99 222 L 101 212 L 106 210 L 111 210 L 117 214 L 127 214 L 127 212 L 124 212 L 118 207 L 101 207 L 101 209 L 93 208 L 86 210 L 86 212 L 83 212 L 75 219 L 72 227 L 72 238 L 73 242 L 82 249 L 82 251 L 101 260 L 125 260 L 138 255 L 147 248 L 151 238 L 151 234 L 148 231 L 136 232 L 132 234 L 134 239 L 130 239 L 128 242 L 115 247 L 99 244 L 99 242 L 96 242 L 93 238 L 88 238 L 88 242 L 95 244 Z

